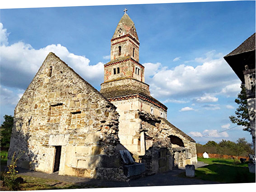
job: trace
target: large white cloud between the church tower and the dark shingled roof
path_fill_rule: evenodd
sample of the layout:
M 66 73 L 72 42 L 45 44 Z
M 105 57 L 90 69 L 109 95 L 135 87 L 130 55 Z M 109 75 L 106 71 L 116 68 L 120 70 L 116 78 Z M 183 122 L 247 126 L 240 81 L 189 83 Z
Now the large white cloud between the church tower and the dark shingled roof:
M 161 63 L 144 63 L 145 78 L 150 92 L 157 98 L 198 98 L 199 101 L 216 102 L 216 93 L 231 95 L 237 93 L 236 75 L 223 59 L 223 54 L 211 51 L 202 58 L 191 61 L 193 65 L 178 65 L 173 69 L 162 67 Z M 204 95 L 209 94 L 209 95 Z M 215 94 L 214 96 L 210 96 Z M 203 96 L 202 96 L 203 95 Z

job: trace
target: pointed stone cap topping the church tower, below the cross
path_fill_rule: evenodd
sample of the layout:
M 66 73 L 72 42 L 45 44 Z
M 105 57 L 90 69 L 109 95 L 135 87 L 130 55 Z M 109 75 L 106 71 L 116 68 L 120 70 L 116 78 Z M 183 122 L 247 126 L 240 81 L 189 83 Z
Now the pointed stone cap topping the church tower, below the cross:
M 117 37 L 121 37 L 124 35 L 130 34 L 131 36 L 133 36 L 137 41 L 139 41 L 137 32 L 136 32 L 136 28 L 135 28 L 135 24 L 134 22 L 131 20 L 131 18 L 129 17 L 129 15 L 127 13 L 125 13 L 122 18 L 120 19 L 120 21 L 117 24 L 116 27 L 116 31 L 112 37 L 112 39 L 115 39 Z

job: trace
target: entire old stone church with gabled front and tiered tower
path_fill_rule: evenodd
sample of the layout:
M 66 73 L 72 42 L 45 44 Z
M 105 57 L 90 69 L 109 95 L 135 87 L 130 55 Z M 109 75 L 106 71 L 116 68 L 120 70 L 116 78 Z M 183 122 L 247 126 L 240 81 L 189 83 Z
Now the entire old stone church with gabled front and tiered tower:
M 195 140 L 150 95 L 139 46 L 125 12 L 100 92 L 49 53 L 14 110 L 8 163 L 21 152 L 25 169 L 112 180 L 197 163 Z

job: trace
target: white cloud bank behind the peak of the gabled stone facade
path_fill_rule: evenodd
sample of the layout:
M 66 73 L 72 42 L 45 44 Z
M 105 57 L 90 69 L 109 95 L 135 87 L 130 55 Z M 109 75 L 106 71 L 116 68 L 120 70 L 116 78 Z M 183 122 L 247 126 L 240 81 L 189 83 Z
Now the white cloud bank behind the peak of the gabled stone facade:
M 6 29 L 3 29 L 3 27 L 1 28 L 1 38 L 2 34 L 7 34 Z M 41 49 L 34 49 L 31 45 L 21 41 L 12 45 L 8 45 L 8 41 L 3 42 L 4 44 L 1 44 L 2 85 L 26 89 L 49 52 L 55 53 L 85 80 L 91 81 L 95 85 L 103 82 L 103 63 L 99 62 L 95 65 L 90 65 L 88 58 L 70 53 L 61 44 L 47 45 Z

